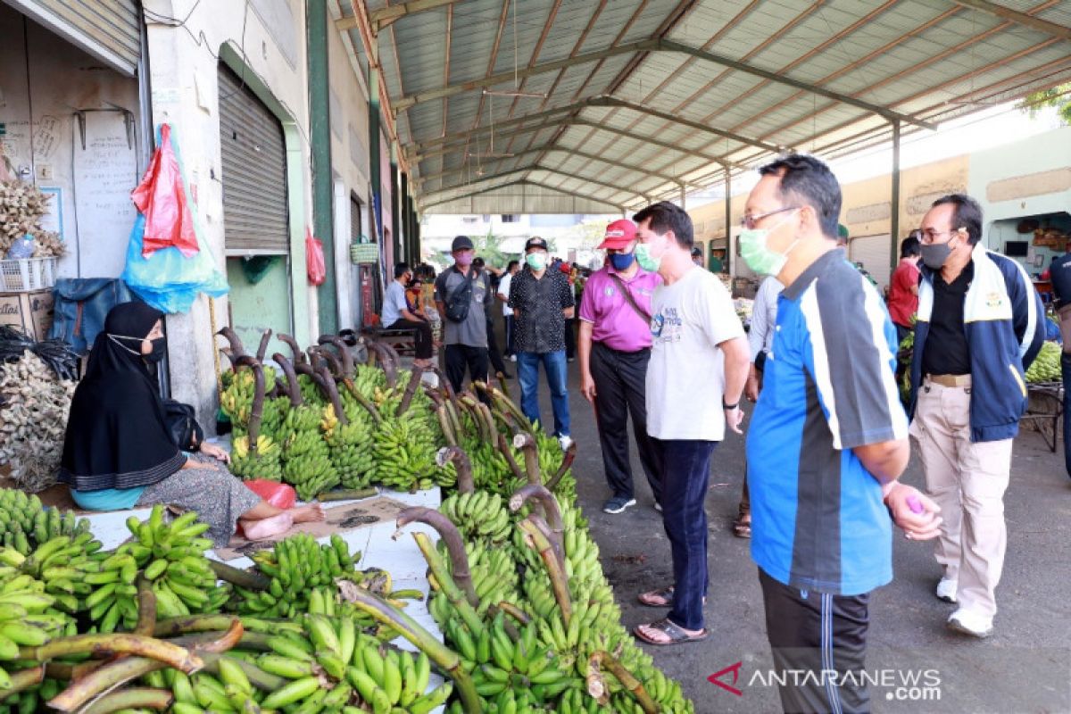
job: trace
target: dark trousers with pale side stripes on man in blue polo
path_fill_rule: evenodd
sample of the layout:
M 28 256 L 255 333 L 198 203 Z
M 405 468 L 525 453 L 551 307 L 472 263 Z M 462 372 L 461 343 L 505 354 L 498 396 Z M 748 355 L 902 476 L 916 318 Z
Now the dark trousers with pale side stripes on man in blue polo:
M 862 680 L 870 626 L 870 593 L 830 595 L 800 590 L 758 571 L 766 604 L 766 636 L 779 674 L 789 671 L 779 687 L 786 714 L 798 712 L 869 712 L 870 692 Z M 824 670 L 835 670 L 839 684 Z M 847 672 L 855 672 L 847 677 Z

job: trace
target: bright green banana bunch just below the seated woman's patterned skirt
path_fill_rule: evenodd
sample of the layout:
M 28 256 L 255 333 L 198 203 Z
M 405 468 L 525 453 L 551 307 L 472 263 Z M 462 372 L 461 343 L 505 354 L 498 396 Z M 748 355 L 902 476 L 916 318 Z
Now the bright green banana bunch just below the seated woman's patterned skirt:
M 155 505 L 147 521 L 131 516 L 126 528 L 134 538 L 107 553 L 100 571 L 84 578 L 94 586 L 85 607 L 100 632 L 132 629 L 137 624 L 139 574 L 152 583 L 162 618 L 217 612 L 227 602 L 230 592 L 216 584 L 205 557 L 212 542 L 200 535 L 209 526 L 198 521 L 196 513 L 186 512 L 167 523 L 164 506 Z

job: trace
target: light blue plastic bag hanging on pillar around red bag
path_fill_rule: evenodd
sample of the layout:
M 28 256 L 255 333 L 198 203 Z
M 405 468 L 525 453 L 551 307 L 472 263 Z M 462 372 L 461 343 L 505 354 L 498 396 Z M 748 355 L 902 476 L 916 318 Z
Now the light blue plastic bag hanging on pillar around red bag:
M 182 166 L 182 154 L 179 152 L 179 141 L 171 128 L 171 147 L 178 158 L 179 171 L 182 177 L 181 191 L 183 200 L 193 206 L 190 189 Z M 160 130 L 156 131 L 160 141 Z M 193 307 L 197 293 L 203 292 L 212 298 L 227 294 L 229 286 L 226 276 L 221 273 L 211 253 L 206 249 L 205 238 L 197 212 L 193 211 L 194 231 L 197 236 L 199 249 L 191 257 L 185 257 L 177 247 L 163 247 L 153 252 L 148 258 L 142 256 L 145 237 L 145 215 L 138 213 L 131 229 L 130 244 L 126 247 L 126 268 L 122 279 L 141 300 L 156 309 L 168 314 L 188 313 Z

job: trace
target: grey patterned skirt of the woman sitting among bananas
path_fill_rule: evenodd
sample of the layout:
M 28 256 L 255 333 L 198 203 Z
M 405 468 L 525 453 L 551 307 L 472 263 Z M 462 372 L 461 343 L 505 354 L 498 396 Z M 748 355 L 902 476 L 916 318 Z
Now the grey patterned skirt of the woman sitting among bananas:
M 206 535 L 215 547 L 230 542 L 235 526 L 243 513 L 260 502 L 260 497 L 246 488 L 223 464 L 202 454 L 191 456 L 203 468 L 181 469 L 167 478 L 146 487 L 138 499 L 139 507 L 163 503 L 196 511 L 200 520 L 210 526 Z M 218 464 L 220 468 L 212 466 Z

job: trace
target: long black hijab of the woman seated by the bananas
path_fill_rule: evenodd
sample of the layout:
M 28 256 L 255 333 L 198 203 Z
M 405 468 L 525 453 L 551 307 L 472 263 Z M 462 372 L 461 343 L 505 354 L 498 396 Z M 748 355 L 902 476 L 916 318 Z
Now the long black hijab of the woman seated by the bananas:
M 71 401 L 60 481 L 82 491 L 148 486 L 185 457 L 171 441 L 141 340 L 163 313 L 145 303 L 116 305 L 89 353 Z

